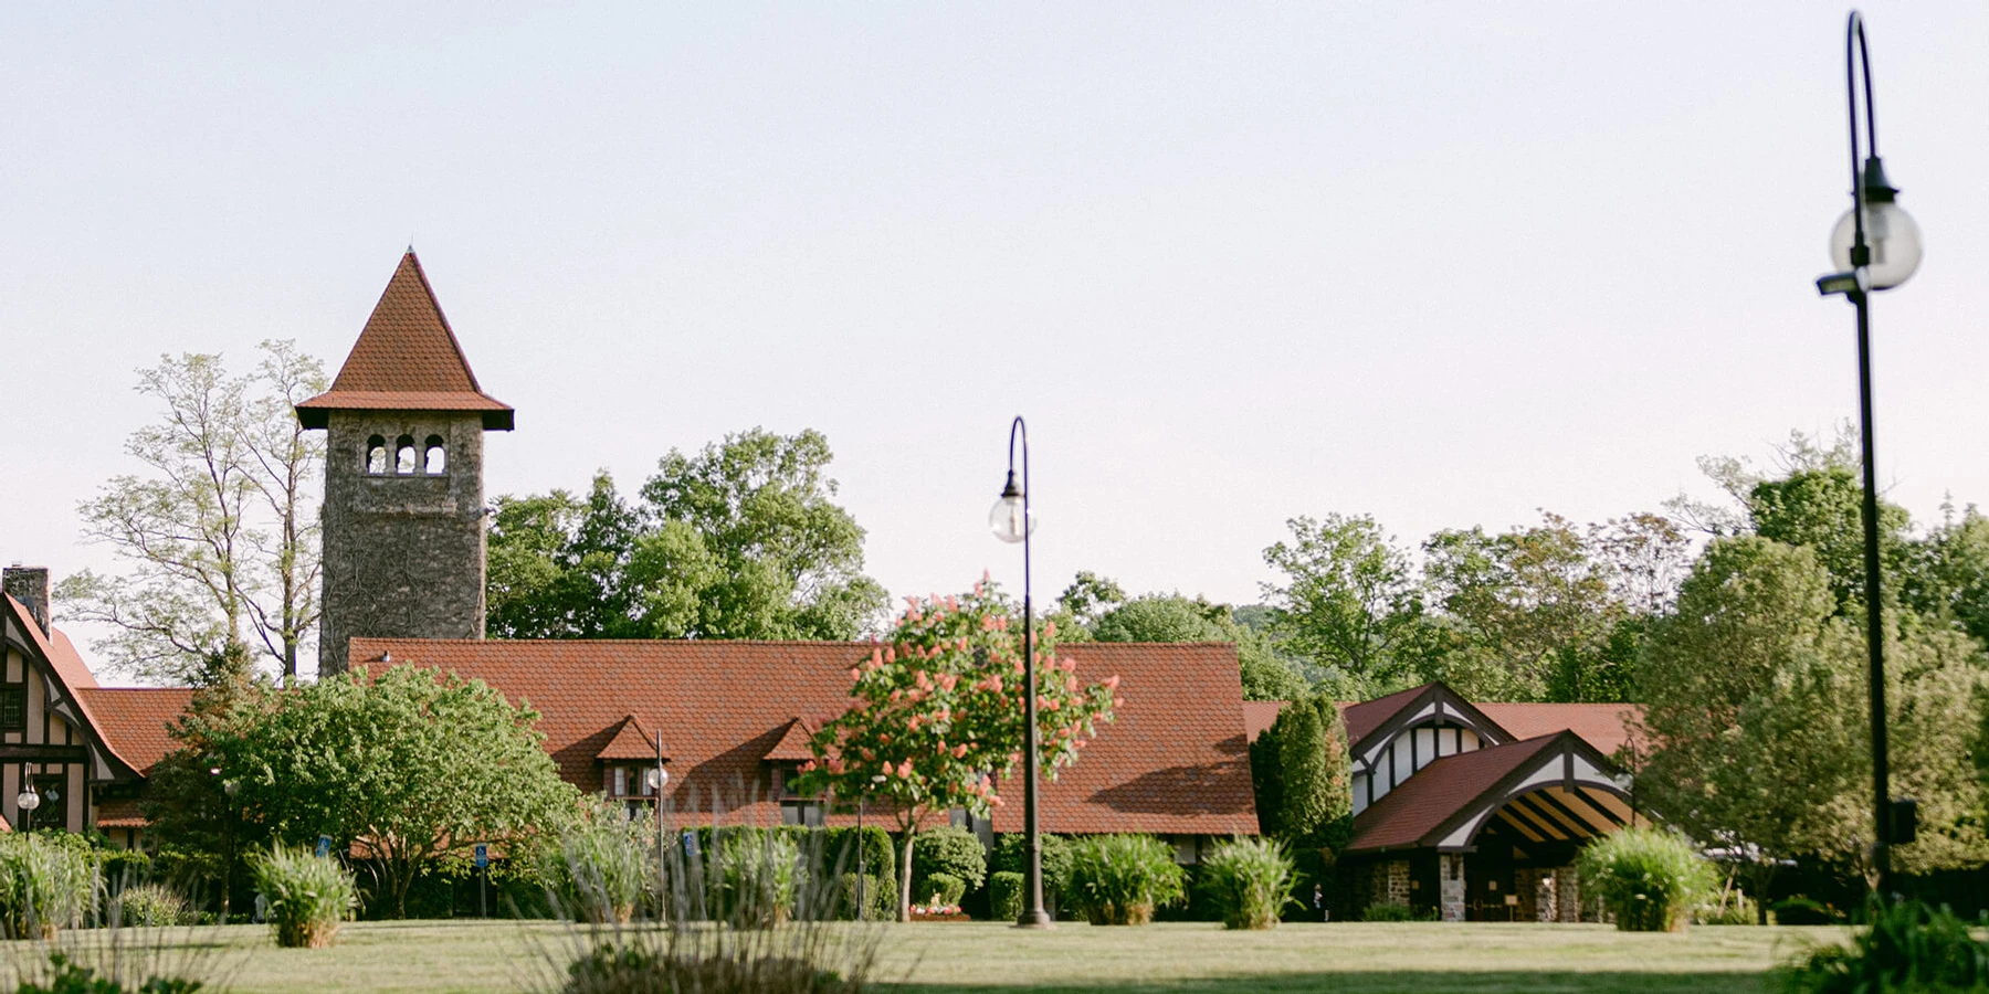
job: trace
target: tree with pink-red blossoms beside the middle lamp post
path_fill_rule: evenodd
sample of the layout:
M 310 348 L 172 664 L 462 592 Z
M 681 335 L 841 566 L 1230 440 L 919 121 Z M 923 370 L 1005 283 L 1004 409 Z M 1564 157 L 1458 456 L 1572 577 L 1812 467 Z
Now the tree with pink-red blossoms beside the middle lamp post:
M 953 807 L 987 817 L 1002 805 L 996 783 L 1022 761 L 1020 628 L 987 579 L 965 596 L 907 598 L 891 636 L 849 670 L 849 710 L 810 740 L 802 789 L 869 793 L 897 815 L 899 920 L 911 914 L 913 835 Z M 1054 636 L 1054 624 L 1036 634 L 1036 734 L 1050 779 L 1112 720 L 1120 682 L 1082 684 L 1076 664 L 1056 658 Z

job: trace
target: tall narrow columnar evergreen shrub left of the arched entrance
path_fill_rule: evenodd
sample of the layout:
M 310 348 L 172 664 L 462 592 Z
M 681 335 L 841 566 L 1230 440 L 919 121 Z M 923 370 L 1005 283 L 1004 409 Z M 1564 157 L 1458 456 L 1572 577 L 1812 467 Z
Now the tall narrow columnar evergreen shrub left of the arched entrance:
M 1353 831 L 1347 724 L 1327 698 L 1295 700 L 1267 736 L 1277 744 L 1273 833 L 1293 845 L 1339 851 Z

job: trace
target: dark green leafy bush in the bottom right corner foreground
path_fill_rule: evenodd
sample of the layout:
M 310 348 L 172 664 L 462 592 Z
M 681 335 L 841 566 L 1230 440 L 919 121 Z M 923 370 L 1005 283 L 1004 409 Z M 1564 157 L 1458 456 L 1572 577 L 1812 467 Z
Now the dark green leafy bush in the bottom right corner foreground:
M 1868 924 L 1846 946 L 1812 948 L 1774 972 L 1788 994 L 1862 994 L 1884 990 L 1989 990 L 1989 940 L 1947 905 L 1874 903 Z M 1989 914 L 1975 922 L 1989 926 Z

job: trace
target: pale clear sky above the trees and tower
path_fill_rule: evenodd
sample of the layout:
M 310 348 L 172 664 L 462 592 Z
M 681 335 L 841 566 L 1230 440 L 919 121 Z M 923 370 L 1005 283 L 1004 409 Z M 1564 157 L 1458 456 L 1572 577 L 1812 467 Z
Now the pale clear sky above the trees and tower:
M 823 431 L 893 594 L 1253 602 L 1295 515 L 1404 543 L 1711 495 L 1858 408 L 1818 298 L 1846 10 L 52 4 L 0 12 L 0 561 L 117 569 L 161 354 L 344 358 L 406 245 L 517 431 L 489 495 Z M 1888 497 L 1989 503 L 1989 6 L 1866 8 L 1925 262 L 1874 300 Z M 60 610 L 60 606 L 58 606 Z

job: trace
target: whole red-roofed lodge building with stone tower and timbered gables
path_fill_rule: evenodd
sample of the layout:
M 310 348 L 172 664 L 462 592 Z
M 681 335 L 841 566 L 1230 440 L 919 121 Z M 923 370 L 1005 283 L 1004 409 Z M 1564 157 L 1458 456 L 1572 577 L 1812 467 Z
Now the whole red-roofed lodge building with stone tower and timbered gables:
M 477 386 L 410 250 L 332 388 L 296 406 L 324 429 L 320 672 L 432 666 L 541 714 L 561 777 L 678 821 L 839 825 L 855 813 L 792 791 L 808 734 L 847 706 L 865 642 L 485 640 L 483 431 L 513 410 Z M 48 624 L 48 571 L 6 573 L 0 817 L 103 829 L 143 845 L 137 797 L 171 747 L 187 690 L 97 688 Z M 1279 702 L 1245 702 L 1229 644 L 1066 644 L 1078 676 L 1120 676 L 1124 704 L 1082 761 L 1042 785 L 1052 833 L 1150 833 L 1193 863 L 1257 833 L 1249 742 Z M 1637 823 L 1609 755 L 1621 706 L 1472 704 L 1440 684 L 1343 706 L 1360 903 L 1446 920 L 1573 920 L 1585 841 Z M 664 791 L 648 787 L 660 761 Z M 28 789 L 32 787 L 32 791 Z M 34 793 L 42 807 L 18 803 Z M 1018 791 L 1006 791 L 1018 793 Z M 955 815 L 985 839 L 1016 803 Z

